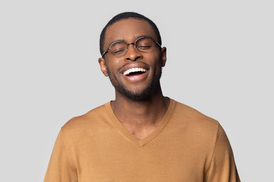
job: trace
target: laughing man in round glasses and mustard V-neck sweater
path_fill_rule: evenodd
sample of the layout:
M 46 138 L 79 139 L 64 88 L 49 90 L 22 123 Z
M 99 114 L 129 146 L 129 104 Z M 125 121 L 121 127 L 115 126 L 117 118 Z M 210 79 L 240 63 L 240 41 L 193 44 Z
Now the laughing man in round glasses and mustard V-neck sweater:
M 100 52 L 115 101 L 61 128 L 44 181 L 240 181 L 218 121 L 162 95 L 166 48 L 151 20 L 115 16 Z

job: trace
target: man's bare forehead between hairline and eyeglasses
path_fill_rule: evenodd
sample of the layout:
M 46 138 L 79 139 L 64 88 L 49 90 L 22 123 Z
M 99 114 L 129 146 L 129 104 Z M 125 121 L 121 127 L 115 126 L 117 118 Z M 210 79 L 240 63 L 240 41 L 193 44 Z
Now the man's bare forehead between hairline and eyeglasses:
M 157 40 L 149 22 L 133 18 L 120 20 L 107 28 L 104 47 L 108 47 L 111 42 L 116 40 L 134 42 L 136 37 L 139 36 L 151 36 L 154 40 Z

